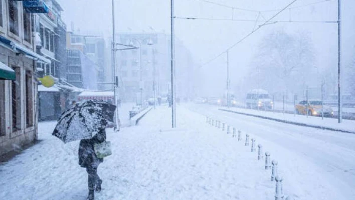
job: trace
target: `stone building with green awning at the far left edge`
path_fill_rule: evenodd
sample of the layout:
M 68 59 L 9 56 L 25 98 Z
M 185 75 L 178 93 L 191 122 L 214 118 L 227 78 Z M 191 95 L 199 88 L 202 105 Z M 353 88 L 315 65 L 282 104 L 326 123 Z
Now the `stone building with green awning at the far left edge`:
M 37 139 L 36 62 L 51 61 L 36 53 L 35 14 L 21 1 L 0 0 L 0 155 Z

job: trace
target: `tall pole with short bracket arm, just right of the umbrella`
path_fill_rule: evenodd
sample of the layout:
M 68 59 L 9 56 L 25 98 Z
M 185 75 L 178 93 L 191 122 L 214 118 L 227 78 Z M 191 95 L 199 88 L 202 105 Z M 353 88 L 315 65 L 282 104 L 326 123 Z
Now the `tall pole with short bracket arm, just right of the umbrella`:
M 113 71 L 113 92 L 114 92 L 114 105 L 116 105 L 114 126 L 115 131 L 119 131 L 119 114 L 118 114 L 118 76 L 116 69 L 116 26 L 115 26 L 115 3 L 112 0 L 112 71 Z

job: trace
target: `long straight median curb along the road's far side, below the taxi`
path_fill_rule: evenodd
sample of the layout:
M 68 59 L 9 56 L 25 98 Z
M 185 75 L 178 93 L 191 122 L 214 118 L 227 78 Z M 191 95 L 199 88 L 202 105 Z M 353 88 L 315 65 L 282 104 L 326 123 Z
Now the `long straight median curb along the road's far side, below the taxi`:
M 305 123 L 300 123 L 300 122 L 287 121 L 287 120 L 276 119 L 276 118 L 272 118 L 272 117 L 264 117 L 264 116 L 260 116 L 260 115 L 248 114 L 248 113 L 237 112 L 237 111 L 232 111 L 232 110 L 226 110 L 226 109 L 221 109 L 221 108 L 219 108 L 218 110 L 225 111 L 225 112 L 236 113 L 236 114 L 240 114 L 240 115 L 251 116 L 251 117 L 258 117 L 258 118 L 261 118 L 261 119 L 267 119 L 267 120 L 277 121 L 277 122 L 286 123 L 286 124 L 293 124 L 293 125 L 297 125 L 297 126 L 306 126 L 306 127 L 318 128 L 318 129 L 323 129 L 323 130 L 330 130 L 330 131 L 338 131 L 338 132 L 343 132 L 343 133 L 355 134 L 354 131 L 330 128 L 330 127 L 325 127 L 325 126 L 310 125 L 310 124 L 305 124 Z

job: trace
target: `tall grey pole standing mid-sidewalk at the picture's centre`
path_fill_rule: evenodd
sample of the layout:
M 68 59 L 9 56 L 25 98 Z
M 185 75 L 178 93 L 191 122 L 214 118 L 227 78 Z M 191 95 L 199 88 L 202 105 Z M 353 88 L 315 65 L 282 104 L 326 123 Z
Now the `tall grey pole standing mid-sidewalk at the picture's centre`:
M 171 119 L 172 128 L 176 128 L 176 104 L 175 104 L 175 1 L 171 0 Z

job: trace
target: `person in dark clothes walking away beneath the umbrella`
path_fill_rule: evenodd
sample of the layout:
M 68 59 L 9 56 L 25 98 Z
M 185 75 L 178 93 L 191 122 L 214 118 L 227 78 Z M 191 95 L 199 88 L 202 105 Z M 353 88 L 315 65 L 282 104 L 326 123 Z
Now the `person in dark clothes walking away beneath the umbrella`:
M 98 158 L 95 154 L 94 145 L 106 141 L 106 130 L 101 129 L 91 139 L 82 139 L 79 144 L 79 165 L 86 168 L 88 173 L 89 195 L 87 200 L 94 200 L 94 190 L 101 191 L 102 180 L 97 175 L 97 168 L 103 162 L 103 158 Z

